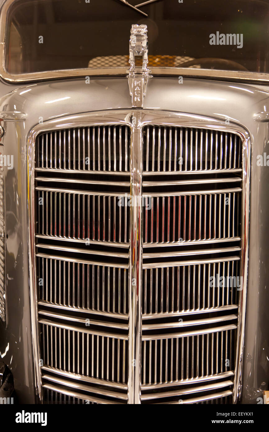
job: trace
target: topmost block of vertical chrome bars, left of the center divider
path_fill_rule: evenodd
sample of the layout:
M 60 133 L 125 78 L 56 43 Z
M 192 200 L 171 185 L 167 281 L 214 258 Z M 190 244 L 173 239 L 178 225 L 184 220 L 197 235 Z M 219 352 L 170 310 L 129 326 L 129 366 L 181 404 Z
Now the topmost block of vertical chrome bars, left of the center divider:
M 36 168 L 128 173 L 129 142 L 125 125 L 49 131 L 37 139 Z

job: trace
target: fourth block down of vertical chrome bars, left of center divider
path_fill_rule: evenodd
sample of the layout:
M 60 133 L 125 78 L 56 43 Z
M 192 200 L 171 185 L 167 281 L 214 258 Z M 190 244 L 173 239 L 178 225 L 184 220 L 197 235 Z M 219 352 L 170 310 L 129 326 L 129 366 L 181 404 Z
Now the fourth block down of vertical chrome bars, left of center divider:
M 39 311 L 41 316 L 60 318 L 77 324 L 87 324 L 86 319 L 70 318 Z M 52 315 L 52 317 L 51 317 Z M 81 378 L 96 378 L 112 383 L 127 383 L 127 336 L 87 330 L 96 325 L 89 320 L 89 327 L 74 327 L 70 324 L 39 320 L 41 356 L 49 372 L 63 370 L 80 375 Z M 104 327 L 108 323 L 104 323 Z M 122 329 L 123 326 L 119 327 Z M 124 328 L 124 327 L 123 327 Z M 125 327 L 127 329 L 127 326 Z M 71 374 L 67 374 L 67 376 Z M 90 381 L 90 380 L 88 380 Z M 101 381 L 100 381 L 101 382 Z M 99 382 L 99 383 L 100 383 Z

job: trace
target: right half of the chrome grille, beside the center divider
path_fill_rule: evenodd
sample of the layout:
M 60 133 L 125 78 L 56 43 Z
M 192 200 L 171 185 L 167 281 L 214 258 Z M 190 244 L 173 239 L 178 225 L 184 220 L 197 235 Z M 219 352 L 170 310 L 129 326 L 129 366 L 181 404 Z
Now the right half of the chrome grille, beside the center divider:
M 158 125 L 142 136 L 141 401 L 221 402 L 235 369 L 242 141 Z

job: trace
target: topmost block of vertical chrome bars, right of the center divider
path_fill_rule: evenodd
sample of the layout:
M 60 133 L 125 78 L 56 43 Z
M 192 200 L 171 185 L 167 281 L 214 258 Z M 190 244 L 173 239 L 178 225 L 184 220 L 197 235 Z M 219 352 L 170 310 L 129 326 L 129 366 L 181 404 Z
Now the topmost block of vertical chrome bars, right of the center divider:
M 241 169 L 241 140 L 234 133 L 149 125 L 143 137 L 146 174 Z

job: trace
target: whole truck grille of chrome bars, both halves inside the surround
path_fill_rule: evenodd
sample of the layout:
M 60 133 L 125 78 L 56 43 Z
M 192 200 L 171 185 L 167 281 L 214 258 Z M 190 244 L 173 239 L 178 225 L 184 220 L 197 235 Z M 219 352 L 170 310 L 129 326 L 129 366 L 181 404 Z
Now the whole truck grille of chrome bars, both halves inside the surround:
M 44 403 L 130 401 L 135 141 L 131 120 L 88 124 L 35 138 Z M 244 285 L 242 135 L 144 124 L 140 137 L 139 400 L 231 403 Z

